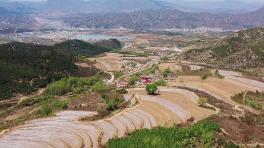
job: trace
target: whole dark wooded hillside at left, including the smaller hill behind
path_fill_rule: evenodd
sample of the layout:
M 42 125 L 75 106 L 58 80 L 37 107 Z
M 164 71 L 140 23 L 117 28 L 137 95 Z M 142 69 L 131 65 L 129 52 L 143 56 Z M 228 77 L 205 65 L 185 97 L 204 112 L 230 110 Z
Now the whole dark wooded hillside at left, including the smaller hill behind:
M 99 44 L 105 47 L 99 46 Z M 76 66 L 70 54 L 87 57 L 108 52 L 120 42 L 116 39 L 90 44 L 67 40 L 53 46 L 12 42 L 0 45 L 0 100 L 15 94 L 28 94 L 65 76 L 91 76 L 94 68 Z M 108 47 L 108 48 L 106 48 Z M 69 53 L 67 53 L 69 52 Z

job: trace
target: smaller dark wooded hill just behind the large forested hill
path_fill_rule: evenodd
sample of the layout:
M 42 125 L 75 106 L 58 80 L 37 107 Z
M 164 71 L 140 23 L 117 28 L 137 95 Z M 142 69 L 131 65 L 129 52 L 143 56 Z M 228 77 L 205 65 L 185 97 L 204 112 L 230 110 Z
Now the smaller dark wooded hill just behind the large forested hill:
M 85 57 L 94 57 L 101 53 L 109 52 L 111 49 L 119 48 L 120 42 L 116 39 L 109 39 L 91 44 L 74 39 L 54 44 L 53 47 L 68 52 L 74 56 L 78 56 L 79 54 L 81 54 Z

